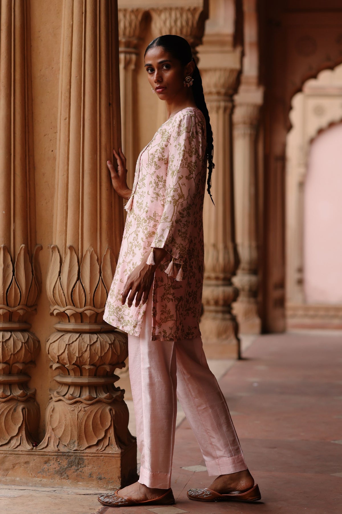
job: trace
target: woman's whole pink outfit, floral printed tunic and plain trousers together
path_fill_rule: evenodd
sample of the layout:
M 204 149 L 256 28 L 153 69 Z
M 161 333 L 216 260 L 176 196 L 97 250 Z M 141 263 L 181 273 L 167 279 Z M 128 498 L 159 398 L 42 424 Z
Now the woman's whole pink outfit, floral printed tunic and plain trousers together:
M 104 319 L 128 332 L 129 375 L 141 453 L 139 482 L 171 484 L 177 397 L 210 475 L 247 469 L 199 332 L 206 186 L 205 119 L 197 108 L 166 121 L 140 153 Z M 168 257 L 147 304 L 121 304 L 129 274 L 153 248 Z M 155 341 L 168 341 L 156 344 Z

